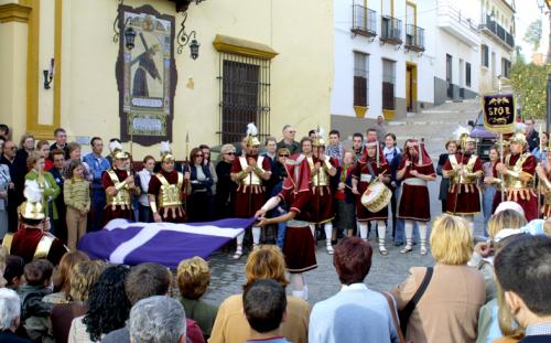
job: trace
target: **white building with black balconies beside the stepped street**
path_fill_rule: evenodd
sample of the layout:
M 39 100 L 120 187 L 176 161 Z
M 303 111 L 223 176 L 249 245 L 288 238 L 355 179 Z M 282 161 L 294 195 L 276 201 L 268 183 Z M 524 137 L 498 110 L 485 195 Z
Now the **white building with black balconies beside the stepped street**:
M 334 0 L 334 13 L 332 127 L 345 137 L 509 77 L 514 0 Z

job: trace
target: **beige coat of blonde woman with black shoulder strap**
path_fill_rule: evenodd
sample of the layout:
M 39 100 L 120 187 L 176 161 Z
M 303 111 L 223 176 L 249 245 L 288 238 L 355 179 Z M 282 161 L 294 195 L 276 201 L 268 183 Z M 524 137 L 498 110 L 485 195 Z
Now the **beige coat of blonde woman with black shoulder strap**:
M 421 286 L 426 268 L 410 269 L 410 277 L 392 290 L 402 310 Z M 423 297 L 410 317 L 407 340 L 423 342 L 475 342 L 478 311 L 486 299 L 483 276 L 467 266 L 434 266 Z

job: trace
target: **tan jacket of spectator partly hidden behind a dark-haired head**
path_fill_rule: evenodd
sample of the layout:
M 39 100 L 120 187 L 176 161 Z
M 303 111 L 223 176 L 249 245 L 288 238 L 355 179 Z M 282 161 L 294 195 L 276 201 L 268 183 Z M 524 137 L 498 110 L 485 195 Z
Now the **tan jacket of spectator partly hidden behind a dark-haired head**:
M 287 321 L 283 336 L 293 343 L 307 342 L 310 306 L 306 301 L 287 297 Z M 250 326 L 242 310 L 242 296 L 227 298 L 218 308 L 208 343 L 240 343 L 250 337 Z

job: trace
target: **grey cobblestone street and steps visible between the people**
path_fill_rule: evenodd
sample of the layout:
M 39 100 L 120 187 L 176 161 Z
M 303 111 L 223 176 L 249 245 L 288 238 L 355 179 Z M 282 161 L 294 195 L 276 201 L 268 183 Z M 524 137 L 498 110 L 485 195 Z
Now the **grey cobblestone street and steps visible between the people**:
M 407 118 L 406 121 L 391 122 L 387 126 L 387 130 L 397 135 L 399 147 L 402 147 L 404 139 L 409 137 L 423 137 L 426 149 L 434 164 L 436 164 L 439 154 L 444 151 L 445 141 L 452 138 L 452 132 L 457 128 L 457 125 L 466 126 L 467 120 L 476 119 L 477 112 L 477 101 L 445 104 L 436 108 L 431 108 L 423 114 L 415 115 L 415 117 Z M 437 201 L 439 185 L 440 178 L 436 182 L 430 183 L 431 214 L 433 218 L 441 214 L 441 203 Z M 477 222 L 476 234 L 480 234 L 482 215 L 478 215 L 475 221 Z M 375 248 L 374 261 L 366 283 L 374 289 L 390 290 L 408 277 L 409 268 L 434 264 L 430 253 L 426 256 L 419 254 L 418 246 L 410 254 L 400 254 L 401 247 L 392 246 L 390 228 L 387 229 L 388 256 L 383 257 L 378 253 L 372 231 L 370 242 Z M 311 304 L 331 297 L 341 287 L 333 267 L 332 256 L 325 251 L 324 242 L 320 240 L 317 247 L 317 269 L 305 274 L 309 285 L 309 302 Z M 231 259 L 230 253 L 215 254 L 210 259 L 213 280 L 206 299 L 214 303 L 219 303 L 226 297 L 241 292 L 241 286 L 245 282 L 246 260 L 247 255 L 244 255 L 240 260 L 235 261 Z

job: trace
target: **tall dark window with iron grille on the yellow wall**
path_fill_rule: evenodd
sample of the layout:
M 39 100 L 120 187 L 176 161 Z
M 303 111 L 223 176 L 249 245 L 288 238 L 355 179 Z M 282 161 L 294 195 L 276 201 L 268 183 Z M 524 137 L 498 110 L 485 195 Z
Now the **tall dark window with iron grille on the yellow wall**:
M 239 142 L 248 122 L 269 132 L 270 61 L 220 53 L 220 142 Z

